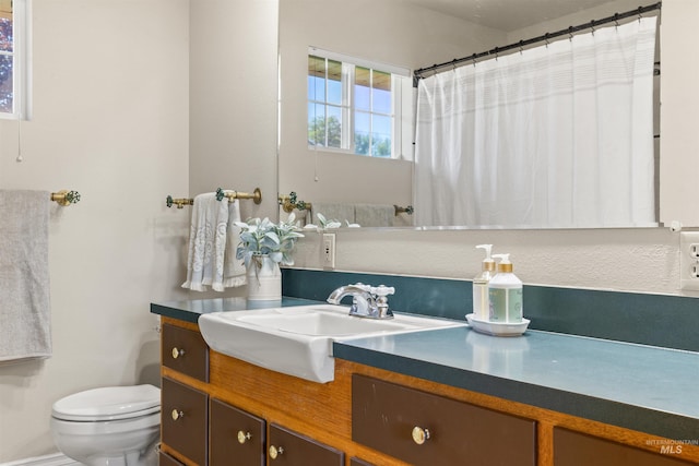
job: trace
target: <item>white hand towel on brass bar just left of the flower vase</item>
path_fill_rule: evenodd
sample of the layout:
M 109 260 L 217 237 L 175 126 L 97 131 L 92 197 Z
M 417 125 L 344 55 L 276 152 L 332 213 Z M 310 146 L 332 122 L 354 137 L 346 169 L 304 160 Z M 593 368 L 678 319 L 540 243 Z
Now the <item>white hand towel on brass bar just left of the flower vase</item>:
M 223 290 L 224 254 L 228 229 L 228 198 L 215 193 L 194 198 L 189 231 L 187 280 L 182 288 L 205 291 L 211 286 Z

